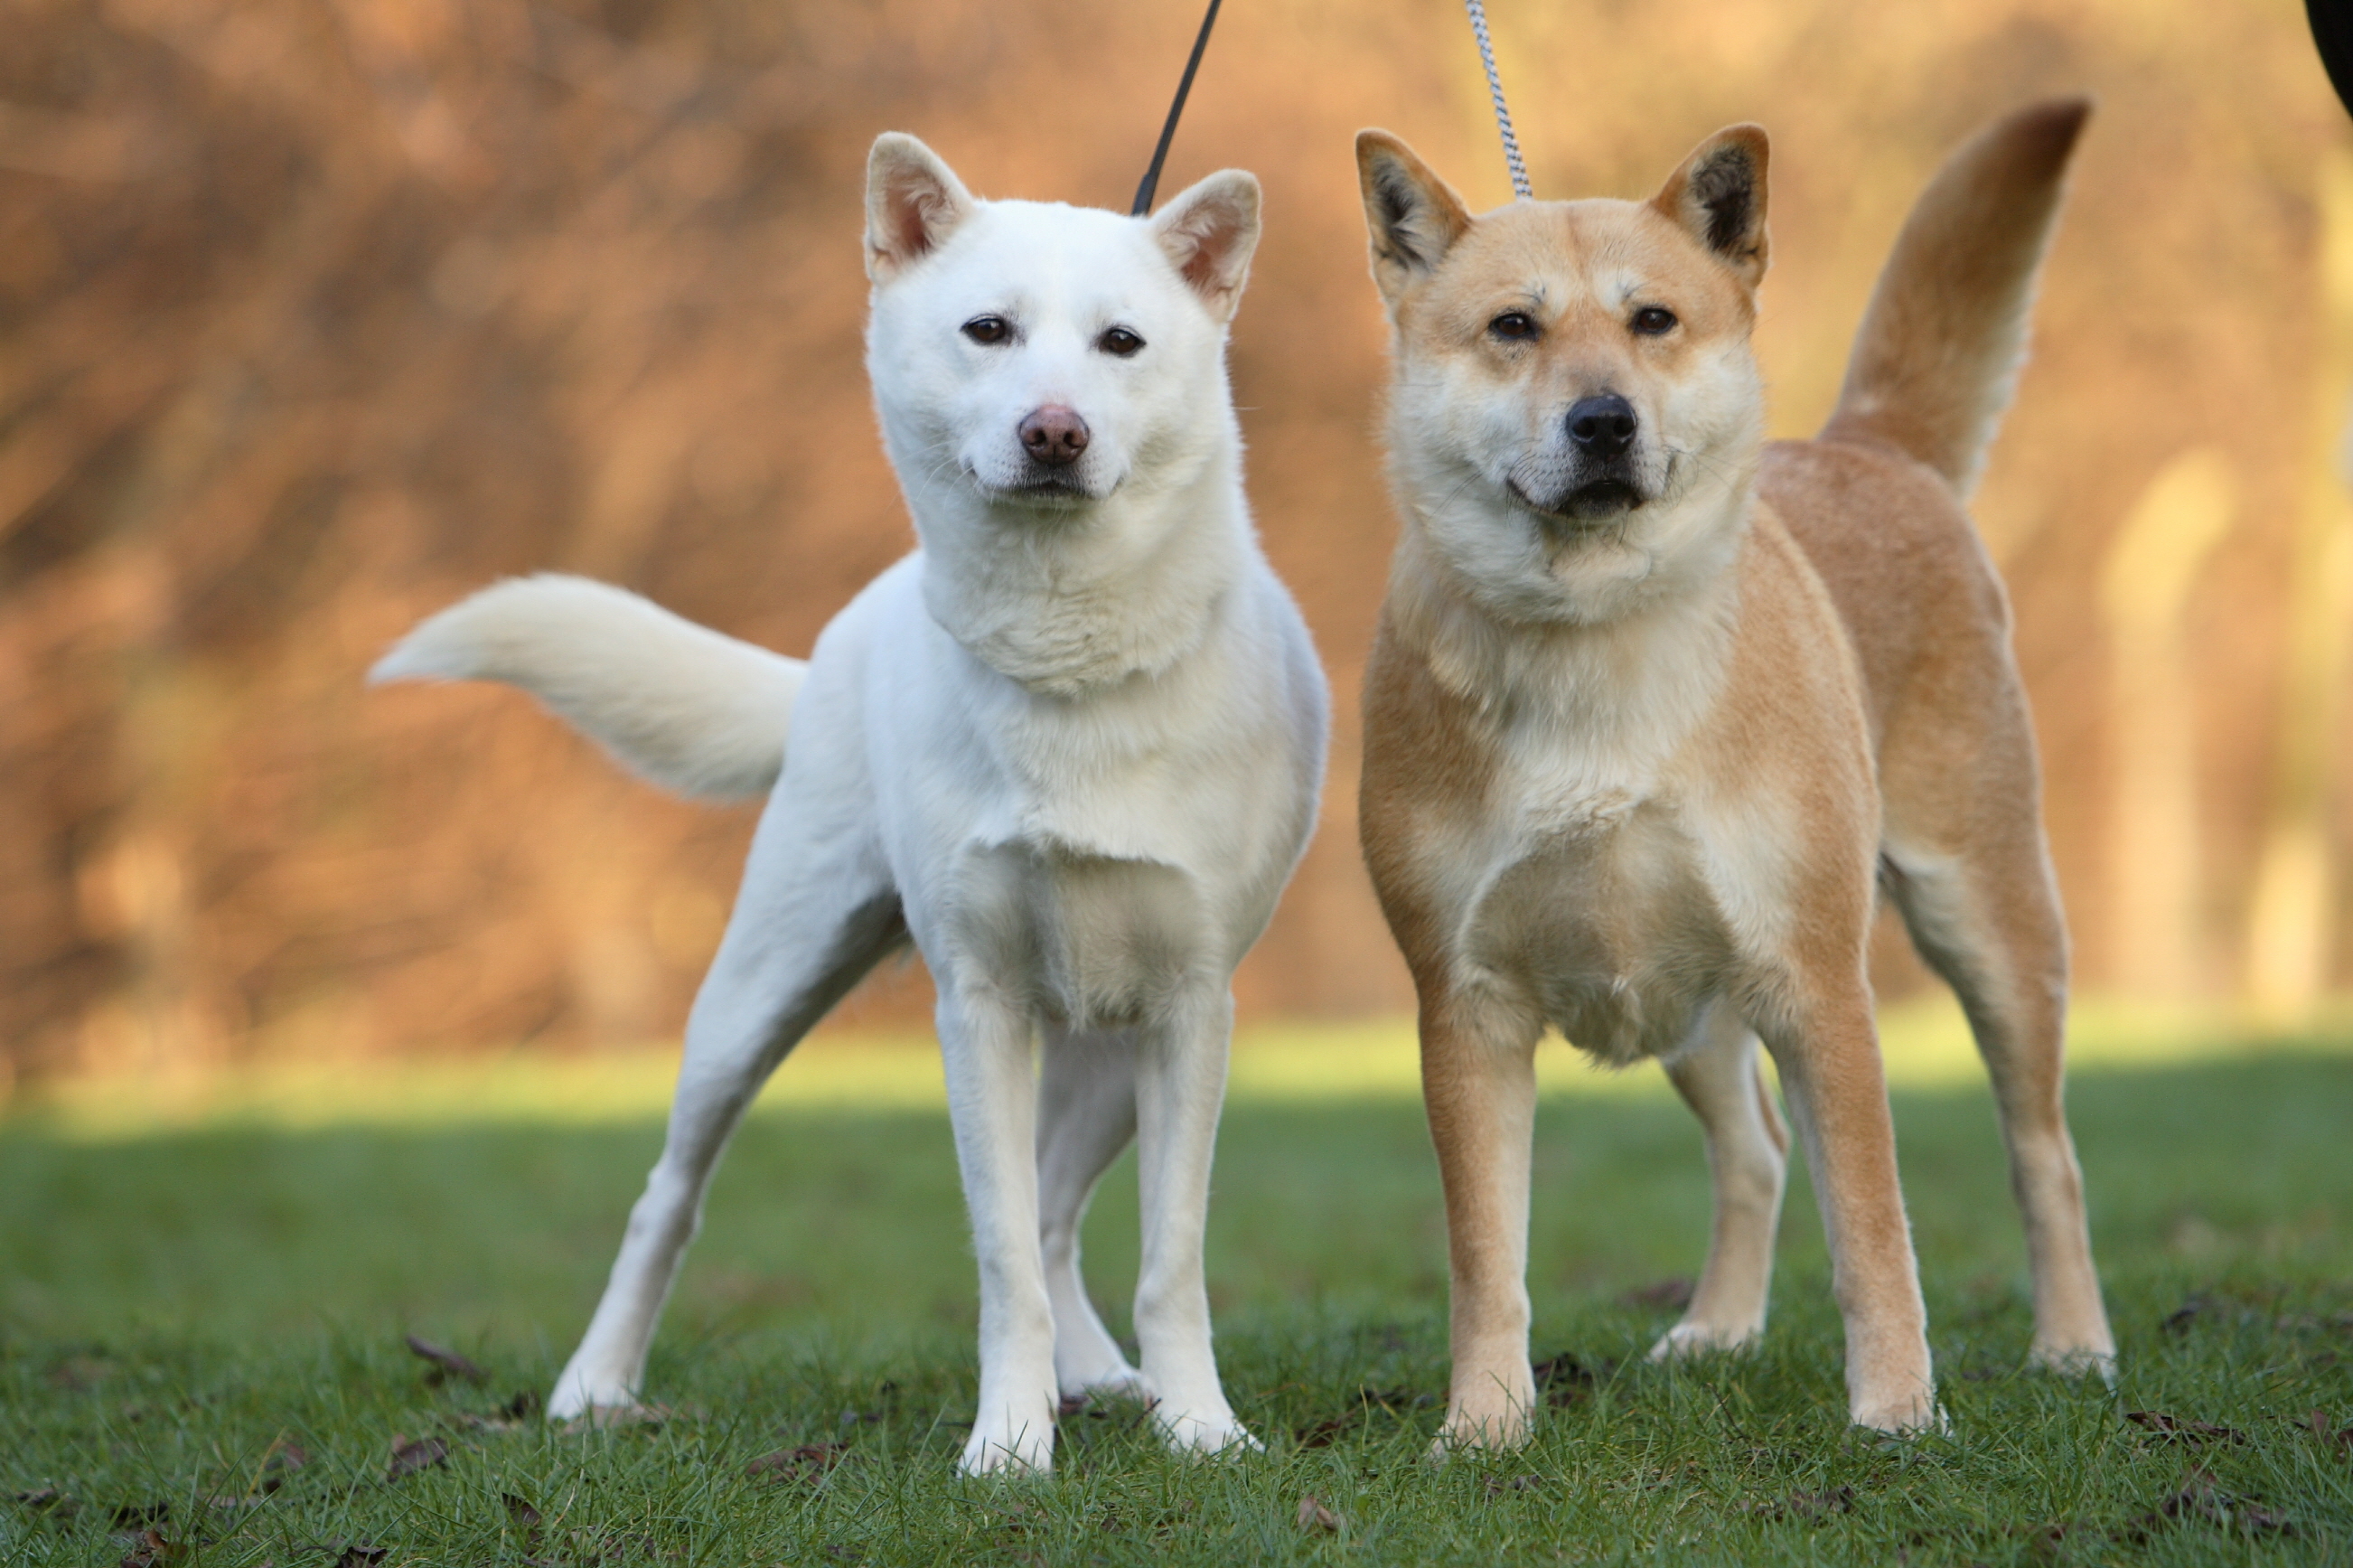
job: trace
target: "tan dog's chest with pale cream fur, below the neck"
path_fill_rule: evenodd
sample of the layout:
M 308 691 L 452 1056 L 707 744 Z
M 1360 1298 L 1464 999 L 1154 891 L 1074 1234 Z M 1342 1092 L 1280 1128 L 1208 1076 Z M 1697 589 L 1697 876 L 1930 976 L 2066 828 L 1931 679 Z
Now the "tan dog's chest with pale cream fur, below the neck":
M 1819 944 L 1798 906 L 1873 852 L 1845 647 L 1769 509 L 1715 600 L 1553 629 L 1501 676 L 1384 622 L 1362 815 L 1421 986 L 1612 1067 L 1680 1050 L 1711 996 L 1769 1001 Z

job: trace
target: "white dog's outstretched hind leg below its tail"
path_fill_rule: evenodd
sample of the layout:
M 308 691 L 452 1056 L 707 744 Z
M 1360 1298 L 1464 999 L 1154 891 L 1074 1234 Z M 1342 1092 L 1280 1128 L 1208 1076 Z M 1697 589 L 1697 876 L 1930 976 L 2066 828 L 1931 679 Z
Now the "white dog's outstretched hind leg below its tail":
M 727 937 L 687 1019 L 668 1140 L 628 1212 L 595 1318 L 548 1396 L 551 1417 L 635 1403 L 654 1323 L 744 1107 L 800 1036 L 906 935 L 864 824 L 845 810 L 802 815 L 779 803 L 753 838 Z

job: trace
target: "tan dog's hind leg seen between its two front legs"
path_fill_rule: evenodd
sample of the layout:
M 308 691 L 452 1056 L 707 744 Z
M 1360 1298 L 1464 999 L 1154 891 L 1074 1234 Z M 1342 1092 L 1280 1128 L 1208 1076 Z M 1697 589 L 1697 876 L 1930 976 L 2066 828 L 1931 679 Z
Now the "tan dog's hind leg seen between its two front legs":
M 1739 1349 L 1765 1333 L 1772 1241 L 1788 1172 L 1788 1128 L 1765 1085 L 1758 1038 L 1739 1012 L 1711 1005 L 1692 1043 L 1668 1059 L 1666 1076 L 1708 1132 L 1715 1229 L 1692 1307 L 1652 1347 L 1652 1361 Z

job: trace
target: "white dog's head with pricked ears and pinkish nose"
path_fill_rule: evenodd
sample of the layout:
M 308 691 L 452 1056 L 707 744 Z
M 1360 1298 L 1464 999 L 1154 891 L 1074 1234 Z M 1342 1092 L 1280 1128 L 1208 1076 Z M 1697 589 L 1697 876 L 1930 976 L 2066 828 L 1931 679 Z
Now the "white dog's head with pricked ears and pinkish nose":
M 1153 219 L 986 202 L 913 137 L 866 165 L 866 365 L 915 527 L 1052 523 L 1186 485 L 1233 436 L 1226 323 L 1259 181 L 1202 179 Z

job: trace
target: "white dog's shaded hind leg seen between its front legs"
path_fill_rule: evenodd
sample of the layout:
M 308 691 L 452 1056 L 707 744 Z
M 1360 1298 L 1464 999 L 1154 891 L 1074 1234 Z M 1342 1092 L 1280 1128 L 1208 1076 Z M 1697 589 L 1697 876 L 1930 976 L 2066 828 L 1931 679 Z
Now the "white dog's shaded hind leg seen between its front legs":
M 1064 1398 L 1146 1391 L 1087 1297 L 1078 1227 L 1111 1161 L 1136 1135 L 1134 1043 L 1118 1034 L 1045 1029 L 1038 1074 L 1038 1215 L 1045 1290 L 1054 1302 L 1054 1382 Z

